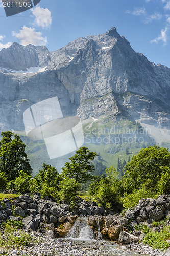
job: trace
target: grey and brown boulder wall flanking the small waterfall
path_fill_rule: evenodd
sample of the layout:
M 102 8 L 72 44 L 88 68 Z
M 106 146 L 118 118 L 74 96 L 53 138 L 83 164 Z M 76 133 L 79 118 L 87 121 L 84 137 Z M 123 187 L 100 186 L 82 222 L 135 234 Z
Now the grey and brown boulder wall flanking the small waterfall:
M 153 231 L 160 230 L 159 227 L 154 228 L 152 222 L 170 216 L 170 195 L 160 195 L 157 199 L 141 199 L 134 210 L 126 211 L 125 216 L 106 210 L 104 215 L 101 215 L 99 209 L 101 207 L 96 206 L 95 202 L 89 203 L 80 198 L 77 206 L 71 211 L 69 205 L 42 200 L 40 194 L 35 194 L 33 198 L 25 194 L 12 201 L 4 199 L 0 202 L 0 222 L 22 219 L 25 229 L 37 230 L 40 233 L 48 232 L 48 236 L 54 238 L 66 237 L 77 218 L 79 222 L 81 216 L 86 219 L 88 217 L 87 224 L 94 236 L 98 237 L 101 232 L 103 239 L 127 244 L 142 240 L 145 236 L 142 231 L 135 229 L 137 224 L 152 228 Z M 82 207 L 84 207 L 83 211 Z M 95 207 L 98 214 L 89 215 L 85 207 L 88 209 Z M 76 212 L 83 214 L 78 215 Z M 13 216 L 13 213 L 18 216 Z M 169 225 L 169 221 L 166 224 Z M 133 234 L 129 233 L 129 230 L 133 231 Z

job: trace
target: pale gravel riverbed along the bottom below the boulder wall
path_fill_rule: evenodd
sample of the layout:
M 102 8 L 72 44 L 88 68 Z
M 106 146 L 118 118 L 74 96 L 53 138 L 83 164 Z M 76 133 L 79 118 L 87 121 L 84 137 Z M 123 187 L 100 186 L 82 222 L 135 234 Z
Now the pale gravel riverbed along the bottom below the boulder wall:
M 119 245 L 112 241 L 78 241 L 64 238 L 52 239 L 37 232 L 31 232 L 30 235 L 35 239 L 39 239 L 36 244 L 30 244 L 24 248 L 11 248 L 0 249 L 0 255 L 22 255 L 22 256 L 87 256 L 87 255 L 152 255 L 152 256 L 165 256 L 168 253 L 162 253 L 159 250 L 153 250 L 148 245 L 131 243 L 128 245 Z

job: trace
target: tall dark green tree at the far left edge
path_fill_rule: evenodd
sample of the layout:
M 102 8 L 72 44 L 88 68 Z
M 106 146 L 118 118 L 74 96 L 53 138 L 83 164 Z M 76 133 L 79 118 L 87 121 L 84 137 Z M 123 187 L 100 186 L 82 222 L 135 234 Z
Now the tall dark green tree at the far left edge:
M 19 170 L 28 175 L 31 174 L 31 166 L 27 154 L 25 153 L 26 145 L 18 135 L 12 132 L 2 132 L 3 136 L 0 142 L 0 169 L 8 181 L 19 176 Z

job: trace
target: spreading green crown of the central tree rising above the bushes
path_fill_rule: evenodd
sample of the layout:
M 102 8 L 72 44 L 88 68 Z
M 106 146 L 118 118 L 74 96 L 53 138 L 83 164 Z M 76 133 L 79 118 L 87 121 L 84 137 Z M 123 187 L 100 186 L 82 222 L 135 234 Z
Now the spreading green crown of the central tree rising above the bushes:
M 98 154 L 90 152 L 87 147 L 81 147 L 76 151 L 73 157 L 70 157 L 70 162 L 66 162 L 63 170 L 63 175 L 70 179 L 75 179 L 76 182 L 84 183 L 93 178 L 91 173 L 94 173 L 94 165 L 92 161 Z

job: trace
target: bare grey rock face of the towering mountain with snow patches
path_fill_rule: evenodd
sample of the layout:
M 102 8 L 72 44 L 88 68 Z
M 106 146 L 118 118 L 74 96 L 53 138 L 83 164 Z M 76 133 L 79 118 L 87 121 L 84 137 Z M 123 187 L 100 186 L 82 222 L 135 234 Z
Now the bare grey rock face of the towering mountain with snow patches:
M 58 96 L 64 116 L 125 117 L 168 133 L 170 69 L 136 53 L 114 27 L 54 52 L 14 43 L 1 50 L 0 67 L 1 130 L 24 130 L 23 112 Z

